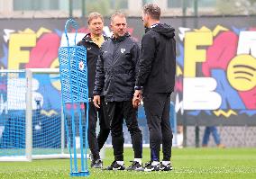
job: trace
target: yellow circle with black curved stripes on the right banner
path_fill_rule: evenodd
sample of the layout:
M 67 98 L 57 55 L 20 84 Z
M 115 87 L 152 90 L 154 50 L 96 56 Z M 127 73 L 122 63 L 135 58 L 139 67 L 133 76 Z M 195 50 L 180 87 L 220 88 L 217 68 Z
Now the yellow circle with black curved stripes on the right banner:
M 227 67 L 227 78 L 234 89 L 249 91 L 256 86 L 256 58 L 239 55 Z

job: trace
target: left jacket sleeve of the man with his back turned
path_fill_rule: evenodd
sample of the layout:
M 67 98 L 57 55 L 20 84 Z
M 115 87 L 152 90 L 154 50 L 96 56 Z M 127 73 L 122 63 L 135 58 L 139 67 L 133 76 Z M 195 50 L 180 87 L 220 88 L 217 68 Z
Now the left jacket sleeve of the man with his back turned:
M 142 38 L 142 51 L 139 65 L 139 72 L 136 78 L 136 86 L 145 85 L 151 74 L 151 66 L 156 50 L 156 41 L 150 34 L 145 34 Z

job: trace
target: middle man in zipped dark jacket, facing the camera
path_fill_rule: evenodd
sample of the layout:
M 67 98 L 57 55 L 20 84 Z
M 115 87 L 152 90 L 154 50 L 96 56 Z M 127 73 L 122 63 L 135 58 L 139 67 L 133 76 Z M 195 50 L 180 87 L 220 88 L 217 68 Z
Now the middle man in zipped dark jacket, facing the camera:
M 110 120 L 114 162 L 107 170 L 124 170 L 123 165 L 123 118 L 131 134 L 134 161 L 127 170 L 142 170 L 142 131 L 137 121 L 137 110 L 133 108 L 133 93 L 136 67 L 140 49 L 126 31 L 123 13 L 111 17 L 113 37 L 106 40 L 96 65 L 94 103 L 103 103 L 100 94 L 104 92 L 106 113 Z

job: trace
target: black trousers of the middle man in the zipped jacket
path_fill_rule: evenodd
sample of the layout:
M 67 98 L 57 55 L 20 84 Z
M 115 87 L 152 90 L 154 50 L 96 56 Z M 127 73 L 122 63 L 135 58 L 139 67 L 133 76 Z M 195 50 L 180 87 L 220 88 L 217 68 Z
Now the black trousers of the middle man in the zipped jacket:
M 142 130 L 137 121 L 137 110 L 132 101 L 108 102 L 106 112 L 110 120 L 114 160 L 123 161 L 123 118 L 131 134 L 134 158 L 142 158 Z

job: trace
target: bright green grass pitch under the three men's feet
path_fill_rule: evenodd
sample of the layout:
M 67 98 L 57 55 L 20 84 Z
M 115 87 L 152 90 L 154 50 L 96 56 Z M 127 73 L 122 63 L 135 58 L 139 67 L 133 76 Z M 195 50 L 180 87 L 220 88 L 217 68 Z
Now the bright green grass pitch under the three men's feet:
M 124 148 L 125 166 L 133 159 L 133 149 Z M 143 162 L 150 159 L 149 148 L 143 149 Z M 112 148 L 105 150 L 104 166 L 114 160 Z M 171 172 L 128 172 L 90 169 L 89 179 L 183 179 L 183 178 L 256 178 L 256 148 L 174 148 Z M 0 178 L 70 178 L 69 159 L 0 162 Z M 73 177 L 81 178 L 81 177 Z

